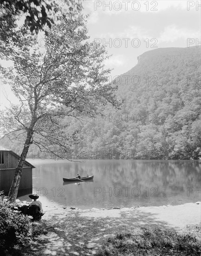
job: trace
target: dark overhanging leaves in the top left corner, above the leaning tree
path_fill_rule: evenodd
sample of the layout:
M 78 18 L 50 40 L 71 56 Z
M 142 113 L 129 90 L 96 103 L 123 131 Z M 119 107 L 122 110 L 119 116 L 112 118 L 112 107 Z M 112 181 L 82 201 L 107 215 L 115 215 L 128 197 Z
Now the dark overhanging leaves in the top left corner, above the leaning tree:
M 80 0 L 64 0 L 60 3 L 62 7 L 65 4 L 69 11 L 82 9 Z M 56 0 L 0 0 L 1 39 L 7 41 L 8 38 L 13 37 L 17 21 L 25 15 L 24 23 L 30 28 L 30 31 L 35 31 L 38 34 L 39 30 L 44 30 L 47 33 L 46 25 L 51 28 L 54 24 L 54 14 L 62 9 L 60 3 Z

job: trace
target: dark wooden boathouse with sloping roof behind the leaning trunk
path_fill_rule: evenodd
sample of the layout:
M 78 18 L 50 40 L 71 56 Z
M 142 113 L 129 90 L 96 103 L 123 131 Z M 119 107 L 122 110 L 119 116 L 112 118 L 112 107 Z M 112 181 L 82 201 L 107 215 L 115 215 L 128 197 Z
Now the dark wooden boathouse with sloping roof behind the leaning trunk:
M 20 156 L 12 150 L 0 146 L 0 191 L 4 190 L 5 195 L 8 195 L 10 190 L 19 159 Z M 18 196 L 32 193 L 32 168 L 35 167 L 25 161 L 22 168 Z

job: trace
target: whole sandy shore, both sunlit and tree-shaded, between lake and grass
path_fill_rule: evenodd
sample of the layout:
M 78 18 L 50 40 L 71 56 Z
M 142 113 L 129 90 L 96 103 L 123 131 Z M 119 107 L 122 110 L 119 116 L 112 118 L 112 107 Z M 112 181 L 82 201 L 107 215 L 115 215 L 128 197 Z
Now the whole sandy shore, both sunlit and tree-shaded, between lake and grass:
M 48 233 L 35 238 L 33 252 L 41 256 L 89 256 L 100 249 L 107 237 L 135 233 L 141 227 L 173 228 L 200 239 L 201 202 L 175 206 L 122 209 L 69 209 L 41 200 L 45 215 L 42 223 Z

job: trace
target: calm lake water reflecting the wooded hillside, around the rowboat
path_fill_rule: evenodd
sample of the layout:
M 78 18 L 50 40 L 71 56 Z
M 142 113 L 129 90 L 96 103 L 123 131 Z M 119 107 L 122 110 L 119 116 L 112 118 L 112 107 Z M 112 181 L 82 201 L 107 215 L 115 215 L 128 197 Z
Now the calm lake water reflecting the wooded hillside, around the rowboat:
M 198 160 L 66 160 L 27 159 L 40 201 L 47 198 L 80 209 L 177 205 L 201 201 Z M 94 175 L 91 182 L 64 178 Z M 31 201 L 28 195 L 20 200 Z

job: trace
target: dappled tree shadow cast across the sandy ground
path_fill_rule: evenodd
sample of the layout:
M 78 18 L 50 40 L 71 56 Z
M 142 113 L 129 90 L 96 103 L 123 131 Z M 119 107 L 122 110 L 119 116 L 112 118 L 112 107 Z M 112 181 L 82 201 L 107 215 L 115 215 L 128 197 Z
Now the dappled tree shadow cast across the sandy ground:
M 54 215 L 43 221 L 47 225 L 47 235 L 34 237 L 31 254 L 33 256 L 85 256 L 95 255 L 108 237 L 117 233 L 138 234 L 142 227 L 167 228 L 167 222 L 155 221 L 154 214 L 128 211 L 119 218 L 93 218 L 72 212 L 69 216 Z M 143 224 L 142 224 L 143 223 Z

